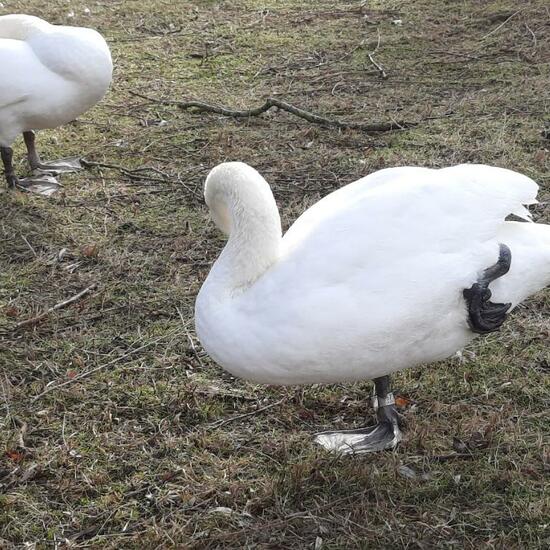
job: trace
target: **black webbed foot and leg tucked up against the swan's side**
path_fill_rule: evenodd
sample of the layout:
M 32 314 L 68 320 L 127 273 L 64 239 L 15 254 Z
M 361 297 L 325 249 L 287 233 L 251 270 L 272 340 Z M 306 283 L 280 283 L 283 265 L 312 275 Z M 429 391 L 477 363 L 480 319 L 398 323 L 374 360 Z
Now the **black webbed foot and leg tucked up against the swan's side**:
M 512 304 L 491 302 L 489 284 L 502 277 L 510 269 L 512 253 L 505 244 L 500 244 L 496 264 L 483 271 L 477 283 L 463 291 L 468 307 L 468 324 L 473 332 L 487 334 L 498 330 L 506 320 L 506 313 Z

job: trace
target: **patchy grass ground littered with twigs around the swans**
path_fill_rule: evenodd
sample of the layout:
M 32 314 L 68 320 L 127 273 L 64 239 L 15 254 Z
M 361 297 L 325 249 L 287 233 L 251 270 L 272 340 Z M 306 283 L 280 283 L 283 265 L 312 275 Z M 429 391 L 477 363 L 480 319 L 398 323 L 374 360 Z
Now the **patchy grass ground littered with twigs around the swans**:
M 265 175 L 285 226 L 403 164 L 513 168 L 548 201 L 545 4 L 2 0 L 0 14 L 98 29 L 115 62 L 98 106 L 38 135 L 46 158 L 99 164 L 63 176 L 50 199 L 0 193 L 5 547 L 549 546 L 548 291 L 462 358 L 396 376 L 406 440 L 361 457 L 311 436 L 365 424 L 369 382 L 234 380 L 192 320 L 223 246 L 202 201 L 221 161 Z M 369 134 L 276 110 L 237 120 L 131 92 L 241 109 L 273 96 L 341 121 L 417 125 Z M 16 157 L 23 173 L 20 142 Z M 547 205 L 533 210 L 549 220 Z

